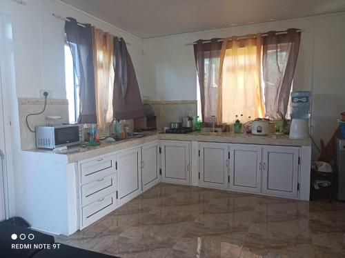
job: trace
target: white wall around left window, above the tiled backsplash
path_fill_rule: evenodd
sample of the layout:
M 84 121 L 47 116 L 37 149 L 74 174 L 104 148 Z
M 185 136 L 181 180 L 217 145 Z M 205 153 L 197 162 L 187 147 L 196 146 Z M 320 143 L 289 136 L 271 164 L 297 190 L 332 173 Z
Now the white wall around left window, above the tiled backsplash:
M 58 0 L 26 0 L 21 5 L 11 0 L 0 1 L 0 12 L 12 20 L 17 97 L 39 97 L 39 90 L 52 90 L 52 98 L 66 99 L 64 67 L 64 21 L 52 16 L 75 17 L 91 23 L 130 43 L 128 51 L 142 86 L 142 40 L 72 8 Z

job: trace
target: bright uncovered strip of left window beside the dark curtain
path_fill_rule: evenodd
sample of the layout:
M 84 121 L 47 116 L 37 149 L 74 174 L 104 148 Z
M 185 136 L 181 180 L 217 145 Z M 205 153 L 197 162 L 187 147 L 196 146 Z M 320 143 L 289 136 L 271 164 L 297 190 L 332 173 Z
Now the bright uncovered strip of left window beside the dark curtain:
M 72 48 L 77 48 L 73 43 Z M 77 52 L 77 51 L 75 51 Z M 68 121 L 75 123 L 79 116 L 79 79 L 75 72 L 70 46 L 65 44 L 66 97 L 68 99 Z

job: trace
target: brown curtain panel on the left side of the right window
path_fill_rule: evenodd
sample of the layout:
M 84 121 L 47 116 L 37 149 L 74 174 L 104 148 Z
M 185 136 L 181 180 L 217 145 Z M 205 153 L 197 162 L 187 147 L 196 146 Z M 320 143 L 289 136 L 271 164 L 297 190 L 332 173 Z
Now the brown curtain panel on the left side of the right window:
M 202 121 L 206 123 L 212 122 L 211 117 L 217 116 L 218 112 L 220 50 L 219 39 L 211 39 L 207 43 L 200 39 L 194 45 L 200 88 L 201 117 Z

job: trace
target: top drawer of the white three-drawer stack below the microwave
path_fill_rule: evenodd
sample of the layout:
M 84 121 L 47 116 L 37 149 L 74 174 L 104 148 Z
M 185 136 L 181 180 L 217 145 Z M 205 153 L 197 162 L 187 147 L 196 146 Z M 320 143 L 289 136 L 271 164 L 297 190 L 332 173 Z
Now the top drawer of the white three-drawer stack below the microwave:
M 95 181 L 101 177 L 115 172 L 115 162 L 111 157 L 104 157 L 81 163 L 81 185 Z

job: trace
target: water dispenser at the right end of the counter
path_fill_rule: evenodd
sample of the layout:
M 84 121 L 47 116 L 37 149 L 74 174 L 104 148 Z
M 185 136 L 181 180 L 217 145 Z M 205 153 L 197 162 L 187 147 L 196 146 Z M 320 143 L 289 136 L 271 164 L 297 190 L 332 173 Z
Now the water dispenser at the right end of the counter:
M 311 92 L 291 92 L 290 139 L 303 139 L 309 136 L 309 117 L 311 117 Z

